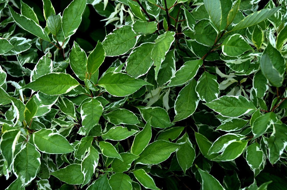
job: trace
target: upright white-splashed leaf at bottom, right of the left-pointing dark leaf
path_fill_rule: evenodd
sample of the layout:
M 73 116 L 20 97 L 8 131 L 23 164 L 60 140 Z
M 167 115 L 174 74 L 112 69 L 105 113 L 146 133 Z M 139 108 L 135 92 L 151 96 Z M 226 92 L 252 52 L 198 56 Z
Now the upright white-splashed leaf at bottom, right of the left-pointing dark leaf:
M 100 157 L 98 151 L 93 146 L 91 146 L 90 150 L 88 151 L 88 154 L 85 156 L 81 163 L 81 171 L 84 174 L 84 182 L 82 187 L 91 180 L 91 177 L 93 177 L 93 174 L 99 162 L 99 158 Z

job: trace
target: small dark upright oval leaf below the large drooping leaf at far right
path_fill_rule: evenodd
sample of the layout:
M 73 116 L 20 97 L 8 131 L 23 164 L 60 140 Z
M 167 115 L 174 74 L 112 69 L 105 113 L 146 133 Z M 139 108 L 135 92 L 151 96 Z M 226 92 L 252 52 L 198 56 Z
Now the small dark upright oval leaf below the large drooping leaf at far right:
M 253 89 L 256 93 L 256 96 L 261 98 L 265 95 L 265 92 L 268 90 L 268 80 L 263 75 L 262 71 L 259 70 L 254 74 L 253 77 Z

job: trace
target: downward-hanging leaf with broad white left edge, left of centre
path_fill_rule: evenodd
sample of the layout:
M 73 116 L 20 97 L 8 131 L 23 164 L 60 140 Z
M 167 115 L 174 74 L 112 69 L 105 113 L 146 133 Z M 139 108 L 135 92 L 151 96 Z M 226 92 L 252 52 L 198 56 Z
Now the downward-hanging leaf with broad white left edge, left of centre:
M 99 122 L 102 113 L 103 106 L 96 98 L 92 98 L 81 106 L 82 126 L 86 134 Z

